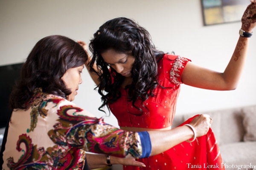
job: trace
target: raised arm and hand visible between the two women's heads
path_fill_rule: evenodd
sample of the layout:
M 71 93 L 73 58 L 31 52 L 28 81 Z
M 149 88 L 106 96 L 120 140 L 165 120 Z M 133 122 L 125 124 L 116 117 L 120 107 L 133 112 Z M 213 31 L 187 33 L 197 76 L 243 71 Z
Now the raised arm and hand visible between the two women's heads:
M 91 58 L 90 58 L 90 54 L 88 53 L 88 50 L 87 50 L 88 49 L 87 44 L 84 41 L 80 41 L 80 40 L 78 40 L 77 42 L 84 48 L 84 51 L 88 55 L 88 60 L 84 64 L 85 64 L 91 78 L 93 79 L 94 83 L 98 86 L 99 85 L 99 81 L 98 81 L 99 76 L 96 73 L 90 72 L 89 64 L 90 64 Z M 98 70 L 96 63 L 94 63 L 93 68 L 94 68 L 94 70 Z

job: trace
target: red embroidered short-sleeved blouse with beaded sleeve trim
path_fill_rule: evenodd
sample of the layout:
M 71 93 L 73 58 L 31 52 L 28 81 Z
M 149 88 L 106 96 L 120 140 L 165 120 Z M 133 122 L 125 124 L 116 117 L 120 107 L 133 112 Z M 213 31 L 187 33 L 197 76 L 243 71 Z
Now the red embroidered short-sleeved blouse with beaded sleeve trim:
M 172 119 L 175 115 L 177 97 L 180 92 L 181 75 L 190 61 L 177 55 L 165 54 L 158 62 L 158 82 L 162 88 L 157 86 L 154 89 L 156 94 L 144 101 L 136 101 L 135 106 L 143 110 L 136 109 L 131 101 L 128 101 L 128 89 L 120 88 L 121 98 L 113 104 L 109 104 L 109 108 L 113 115 L 116 116 L 120 127 L 143 127 L 150 129 L 162 129 L 172 125 Z M 156 123 L 157 122 L 157 123 Z

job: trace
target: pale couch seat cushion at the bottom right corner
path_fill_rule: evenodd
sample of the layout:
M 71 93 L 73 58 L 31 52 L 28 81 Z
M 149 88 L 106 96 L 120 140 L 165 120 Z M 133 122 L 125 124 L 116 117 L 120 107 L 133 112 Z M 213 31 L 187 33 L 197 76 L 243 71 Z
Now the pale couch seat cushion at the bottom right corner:
M 221 145 L 219 148 L 224 165 L 229 166 L 226 167 L 226 170 L 238 170 L 238 167 L 235 167 L 235 165 L 256 166 L 256 142 L 236 142 Z M 232 165 L 233 168 L 230 167 Z M 244 167 L 241 169 L 246 170 Z M 250 170 L 250 168 L 248 168 L 248 170 Z

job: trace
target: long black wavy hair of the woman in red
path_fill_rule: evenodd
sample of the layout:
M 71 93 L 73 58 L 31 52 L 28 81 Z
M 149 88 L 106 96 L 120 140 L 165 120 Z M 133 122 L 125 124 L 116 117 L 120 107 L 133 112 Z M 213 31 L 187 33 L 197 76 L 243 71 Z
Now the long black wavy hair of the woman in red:
M 119 88 L 124 77 L 114 69 L 109 69 L 101 55 L 113 49 L 119 53 L 132 55 L 135 59 L 131 70 L 132 83 L 126 88 L 128 88 L 128 98 L 133 106 L 142 111 L 134 103 L 141 100 L 143 104 L 143 101 L 147 100 L 150 95 L 154 96 L 153 90 L 158 85 L 157 61 L 163 56 L 163 52 L 155 48 L 148 31 L 134 20 L 125 17 L 114 18 L 99 27 L 93 39 L 90 40 L 89 49 L 93 54 L 90 71 L 99 75 L 100 84 L 97 87 L 103 102 L 99 110 L 106 105 L 108 107 L 108 104 L 116 101 L 121 95 Z M 93 69 L 95 62 L 99 70 Z

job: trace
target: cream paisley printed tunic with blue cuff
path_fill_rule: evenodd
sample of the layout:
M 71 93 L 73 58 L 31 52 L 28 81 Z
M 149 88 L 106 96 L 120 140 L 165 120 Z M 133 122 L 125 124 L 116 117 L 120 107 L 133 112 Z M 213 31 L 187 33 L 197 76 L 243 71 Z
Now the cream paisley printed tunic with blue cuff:
M 57 95 L 37 89 L 27 106 L 12 112 L 4 170 L 82 170 L 85 151 L 135 158 L 151 153 L 148 133 L 119 130 Z

